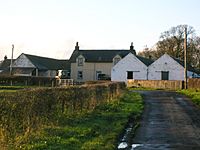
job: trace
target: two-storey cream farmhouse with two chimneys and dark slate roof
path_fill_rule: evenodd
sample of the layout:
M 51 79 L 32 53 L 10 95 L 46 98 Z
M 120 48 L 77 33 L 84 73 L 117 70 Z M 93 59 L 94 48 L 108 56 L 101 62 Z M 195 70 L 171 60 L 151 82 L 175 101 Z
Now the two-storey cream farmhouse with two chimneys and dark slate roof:
M 71 78 L 77 82 L 98 80 L 100 74 L 111 77 L 111 68 L 130 52 L 130 50 L 80 50 L 78 42 L 73 51 L 71 62 Z

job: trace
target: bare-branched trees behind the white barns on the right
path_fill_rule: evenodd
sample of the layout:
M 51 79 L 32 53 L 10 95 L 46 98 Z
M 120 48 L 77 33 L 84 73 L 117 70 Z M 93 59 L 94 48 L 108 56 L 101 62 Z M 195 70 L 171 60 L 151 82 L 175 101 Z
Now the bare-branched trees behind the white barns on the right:
M 200 70 L 200 37 L 196 36 L 195 29 L 188 25 L 178 25 L 162 32 L 159 41 L 152 48 L 146 47 L 138 55 L 155 60 L 167 53 L 183 61 L 185 27 L 187 27 L 187 62 Z

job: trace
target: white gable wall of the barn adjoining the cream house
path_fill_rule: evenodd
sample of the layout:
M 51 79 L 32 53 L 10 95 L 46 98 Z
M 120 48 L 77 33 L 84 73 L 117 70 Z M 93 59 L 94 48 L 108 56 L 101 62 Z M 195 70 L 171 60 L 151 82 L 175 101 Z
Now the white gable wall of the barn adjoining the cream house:
M 112 68 L 111 80 L 126 82 L 127 71 L 133 71 L 133 79 L 147 79 L 147 66 L 132 53 L 129 53 Z

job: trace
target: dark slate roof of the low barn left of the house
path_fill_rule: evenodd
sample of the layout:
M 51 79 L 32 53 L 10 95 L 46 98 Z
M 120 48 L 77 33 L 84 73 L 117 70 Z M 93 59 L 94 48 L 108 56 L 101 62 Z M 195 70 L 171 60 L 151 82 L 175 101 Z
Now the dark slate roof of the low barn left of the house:
M 70 70 L 69 60 L 58 60 L 29 54 L 24 55 L 40 70 Z

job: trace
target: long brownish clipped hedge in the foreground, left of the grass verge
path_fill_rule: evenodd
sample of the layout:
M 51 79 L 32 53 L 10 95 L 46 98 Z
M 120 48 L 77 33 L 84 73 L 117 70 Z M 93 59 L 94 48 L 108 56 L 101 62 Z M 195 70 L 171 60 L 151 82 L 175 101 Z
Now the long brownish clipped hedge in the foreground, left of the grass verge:
M 0 93 L 0 143 L 16 142 L 43 125 L 55 124 L 59 115 L 91 111 L 124 89 L 124 83 L 110 82 Z

